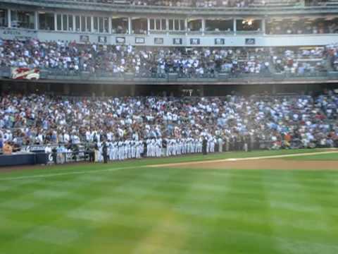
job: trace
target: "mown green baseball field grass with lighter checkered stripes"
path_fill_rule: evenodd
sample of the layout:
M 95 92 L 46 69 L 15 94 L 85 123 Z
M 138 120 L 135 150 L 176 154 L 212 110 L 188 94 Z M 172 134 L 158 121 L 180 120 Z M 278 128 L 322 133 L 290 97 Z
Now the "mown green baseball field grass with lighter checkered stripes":
M 0 254 L 337 254 L 338 171 L 146 167 L 294 152 L 318 150 L 0 174 Z M 337 154 L 330 158 L 338 160 Z

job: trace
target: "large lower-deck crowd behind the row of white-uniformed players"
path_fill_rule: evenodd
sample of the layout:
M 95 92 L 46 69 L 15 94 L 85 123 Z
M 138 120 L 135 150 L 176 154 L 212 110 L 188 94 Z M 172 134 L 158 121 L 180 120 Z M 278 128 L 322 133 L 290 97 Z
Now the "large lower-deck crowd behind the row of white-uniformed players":
M 280 147 L 338 146 L 338 95 L 311 97 L 49 97 L 4 95 L 0 129 L 5 143 L 25 145 L 102 143 L 148 156 Z M 182 146 L 182 148 L 179 148 Z M 190 145 L 189 145 L 190 144 Z M 139 147 L 139 148 L 137 148 Z M 185 147 L 185 148 L 183 148 Z M 217 150 L 222 150 L 219 145 Z M 143 150 L 141 150 L 142 152 Z M 115 155 L 118 156 L 118 155 Z M 112 155 L 113 157 L 113 155 Z M 116 157 L 118 158 L 118 157 Z

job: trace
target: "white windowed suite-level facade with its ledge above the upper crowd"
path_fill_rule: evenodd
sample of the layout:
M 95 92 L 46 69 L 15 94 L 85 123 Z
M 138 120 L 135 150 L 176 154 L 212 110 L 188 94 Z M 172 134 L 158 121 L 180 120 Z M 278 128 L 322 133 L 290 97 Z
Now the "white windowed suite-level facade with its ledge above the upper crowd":
M 277 23 L 338 22 L 334 6 L 183 8 L 93 1 L 1 1 L 1 37 L 161 47 L 325 46 L 338 35 L 269 35 Z M 246 25 L 249 23 L 251 25 Z

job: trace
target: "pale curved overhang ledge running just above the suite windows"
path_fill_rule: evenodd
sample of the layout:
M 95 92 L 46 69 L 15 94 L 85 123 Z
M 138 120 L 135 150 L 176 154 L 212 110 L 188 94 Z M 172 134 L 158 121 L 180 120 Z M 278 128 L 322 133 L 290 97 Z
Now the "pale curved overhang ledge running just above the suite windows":
M 278 16 L 278 15 L 312 15 L 338 13 L 334 6 L 286 6 L 286 7 L 247 7 L 247 8 L 189 8 L 189 7 L 165 7 L 165 6 L 130 6 L 118 4 L 100 4 L 78 1 L 56 0 L 1 0 L 2 7 L 24 8 L 35 10 L 67 9 L 74 11 L 98 11 L 108 13 L 154 13 L 166 15 L 186 16 Z

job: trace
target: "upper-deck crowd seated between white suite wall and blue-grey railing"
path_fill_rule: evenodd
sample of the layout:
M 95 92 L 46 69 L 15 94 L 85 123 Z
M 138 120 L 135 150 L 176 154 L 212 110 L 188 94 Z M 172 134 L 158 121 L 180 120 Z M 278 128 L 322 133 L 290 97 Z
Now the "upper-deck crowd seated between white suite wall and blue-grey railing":
M 213 78 L 217 73 L 265 74 L 271 68 L 299 74 L 327 71 L 328 53 L 337 56 L 337 47 L 187 49 L 1 40 L 0 66 L 115 76 L 132 73 L 145 78 L 164 78 L 168 73 L 180 78 Z

